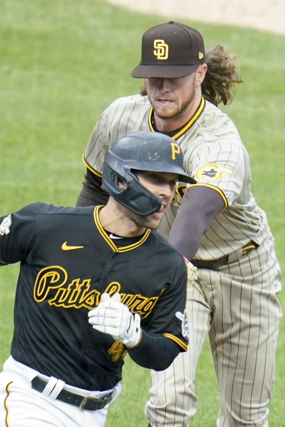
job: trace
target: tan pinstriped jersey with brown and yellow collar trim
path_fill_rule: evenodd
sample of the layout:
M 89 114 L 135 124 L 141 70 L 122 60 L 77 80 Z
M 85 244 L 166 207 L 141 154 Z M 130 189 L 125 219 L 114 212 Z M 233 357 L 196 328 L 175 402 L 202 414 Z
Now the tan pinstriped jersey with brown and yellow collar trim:
M 103 112 L 85 150 L 86 166 L 101 175 L 109 146 L 126 133 L 154 131 L 153 110 L 147 97 L 134 95 L 117 99 Z M 241 257 L 250 240 L 261 245 L 268 233 L 266 215 L 256 205 L 250 190 L 250 161 L 232 120 L 210 102 L 201 100 L 194 116 L 173 139 L 184 155 L 184 168 L 197 180 L 222 196 L 225 209 L 203 235 L 195 256 L 212 260 L 231 254 Z M 185 184 L 177 184 L 176 196 L 162 219 L 159 232 L 167 237 L 181 203 Z

